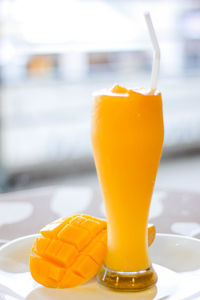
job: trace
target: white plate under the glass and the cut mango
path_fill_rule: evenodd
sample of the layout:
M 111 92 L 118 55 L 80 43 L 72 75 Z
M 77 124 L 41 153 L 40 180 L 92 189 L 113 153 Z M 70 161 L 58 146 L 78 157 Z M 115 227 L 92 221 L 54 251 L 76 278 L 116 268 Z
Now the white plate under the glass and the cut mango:
M 63 290 L 37 284 L 28 263 L 34 238 L 35 235 L 19 238 L 0 248 L 0 299 L 200 299 L 200 240 L 157 234 L 150 247 L 157 285 L 144 292 L 125 293 L 105 289 L 95 278 L 80 287 Z

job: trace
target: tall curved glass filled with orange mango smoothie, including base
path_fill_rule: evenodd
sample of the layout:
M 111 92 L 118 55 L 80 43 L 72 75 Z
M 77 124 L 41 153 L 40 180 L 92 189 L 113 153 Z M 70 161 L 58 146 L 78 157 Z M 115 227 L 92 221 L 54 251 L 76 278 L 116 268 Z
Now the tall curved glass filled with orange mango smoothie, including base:
M 107 287 L 137 291 L 157 281 L 147 224 L 163 136 L 160 93 L 115 86 L 94 95 L 91 138 L 108 222 L 97 278 Z

